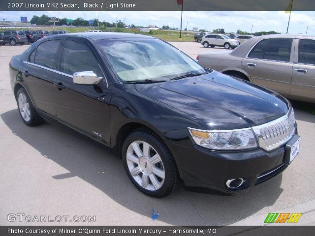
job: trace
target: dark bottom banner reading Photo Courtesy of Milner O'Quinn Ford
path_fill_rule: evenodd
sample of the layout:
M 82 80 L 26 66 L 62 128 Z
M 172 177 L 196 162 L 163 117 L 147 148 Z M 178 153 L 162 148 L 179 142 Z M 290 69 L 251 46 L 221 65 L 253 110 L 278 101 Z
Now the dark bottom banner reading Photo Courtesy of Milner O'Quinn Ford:
M 1 236 L 313 236 L 315 226 L 0 226 Z

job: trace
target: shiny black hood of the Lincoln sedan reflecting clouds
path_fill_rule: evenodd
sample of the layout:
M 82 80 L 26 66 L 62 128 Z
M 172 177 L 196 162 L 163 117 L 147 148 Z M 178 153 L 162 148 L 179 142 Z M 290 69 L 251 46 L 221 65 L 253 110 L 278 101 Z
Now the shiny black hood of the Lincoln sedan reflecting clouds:
M 280 118 L 288 111 L 281 96 L 216 71 L 135 87 L 141 94 L 202 121 L 209 130 L 256 126 Z

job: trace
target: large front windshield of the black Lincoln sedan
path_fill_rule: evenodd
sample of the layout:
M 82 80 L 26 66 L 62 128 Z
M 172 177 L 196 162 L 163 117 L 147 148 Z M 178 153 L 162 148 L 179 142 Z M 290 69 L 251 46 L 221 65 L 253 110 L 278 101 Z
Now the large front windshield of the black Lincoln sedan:
M 193 59 L 159 39 L 104 39 L 97 40 L 96 45 L 123 82 L 206 73 Z

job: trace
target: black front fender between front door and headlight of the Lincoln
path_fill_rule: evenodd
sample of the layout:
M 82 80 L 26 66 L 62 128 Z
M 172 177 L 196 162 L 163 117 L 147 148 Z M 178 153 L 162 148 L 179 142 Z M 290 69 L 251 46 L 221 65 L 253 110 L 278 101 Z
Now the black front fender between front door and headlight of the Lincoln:
M 165 143 L 192 147 L 187 127 L 203 128 L 189 115 L 140 94 L 133 84 L 114 84 L 111 100 L 111 146 L 122 126 L 139 123 L 152 129 Z M 123 137 L 126 138 L 126 137 Z

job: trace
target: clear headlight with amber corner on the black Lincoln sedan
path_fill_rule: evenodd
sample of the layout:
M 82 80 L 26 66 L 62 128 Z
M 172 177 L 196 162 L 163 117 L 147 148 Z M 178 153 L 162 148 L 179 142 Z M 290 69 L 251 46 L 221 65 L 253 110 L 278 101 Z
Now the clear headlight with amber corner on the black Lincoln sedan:
M 194 142 L 204 148 L 215 150 L 235 150 L 257 148 L 252 129 L 235 131 L 204 131 L 188 128 Z

